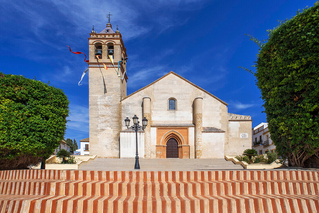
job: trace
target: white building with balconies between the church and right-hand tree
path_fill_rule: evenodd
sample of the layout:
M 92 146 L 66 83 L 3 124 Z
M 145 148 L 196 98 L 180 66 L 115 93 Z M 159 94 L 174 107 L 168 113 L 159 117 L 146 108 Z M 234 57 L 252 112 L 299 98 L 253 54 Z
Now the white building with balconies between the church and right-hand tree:
M 267 151 L 274 152 L 276 146 L 272 143 L 270 133 L 268 131 L 268 123 L 260 123 L 251 130 L 253 149 L 258 154 L 265 154 Z

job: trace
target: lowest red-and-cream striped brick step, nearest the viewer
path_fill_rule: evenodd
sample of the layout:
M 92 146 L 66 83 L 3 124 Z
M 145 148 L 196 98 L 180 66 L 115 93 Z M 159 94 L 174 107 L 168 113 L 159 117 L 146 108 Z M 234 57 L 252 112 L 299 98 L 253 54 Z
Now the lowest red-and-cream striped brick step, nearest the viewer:
M 242 196 L 41 196 L 0 197 L 1 212 L 317 212 L 318 197 L 310 195 Z

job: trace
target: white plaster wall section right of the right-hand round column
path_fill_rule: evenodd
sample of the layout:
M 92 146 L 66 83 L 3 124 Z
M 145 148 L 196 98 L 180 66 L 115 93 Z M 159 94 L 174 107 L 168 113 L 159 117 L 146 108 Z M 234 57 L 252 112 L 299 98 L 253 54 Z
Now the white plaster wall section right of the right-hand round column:
M 224 158 L 224 132 L 202 133 L 202 158 Z

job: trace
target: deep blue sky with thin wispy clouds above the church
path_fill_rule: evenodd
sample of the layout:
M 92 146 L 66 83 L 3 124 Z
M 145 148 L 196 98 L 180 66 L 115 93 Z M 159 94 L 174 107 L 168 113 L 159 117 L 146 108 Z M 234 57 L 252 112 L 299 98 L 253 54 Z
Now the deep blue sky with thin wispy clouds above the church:
M 127 93 L 173 70 L 228 103 L 228 112 L 266 122 L 252 68 L 258 52 L 244 34 L 262 40 L 277 20 L 315 1 L 90 1 L 0 0 L 0 71 L 63 89 L 70 100 L 65 138 L 89 137 L 87 37 L 100 32 L 110 11 L 127 49 Z

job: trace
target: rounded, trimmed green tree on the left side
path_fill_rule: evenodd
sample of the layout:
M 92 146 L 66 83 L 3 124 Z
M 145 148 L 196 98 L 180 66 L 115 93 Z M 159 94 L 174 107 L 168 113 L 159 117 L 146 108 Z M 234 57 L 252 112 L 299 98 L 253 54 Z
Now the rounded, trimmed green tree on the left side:
M 47 159 L 63 139 L 68 105 L 58 88 L 0 73 L 0 170 Z

